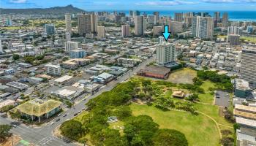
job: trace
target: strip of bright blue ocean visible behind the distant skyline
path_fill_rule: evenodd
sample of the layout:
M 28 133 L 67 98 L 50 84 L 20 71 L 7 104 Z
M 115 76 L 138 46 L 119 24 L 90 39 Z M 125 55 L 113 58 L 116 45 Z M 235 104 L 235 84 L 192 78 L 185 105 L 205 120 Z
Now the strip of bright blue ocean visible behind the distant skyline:
M 104 10 L 97 10 L 97 11 L 104 11 Z M 175 12 L 195 12 L 195 11 L 189 11 L 189 10 L 155 10 L 155 11 L 140 11 L 140 14 L 142 14 L 143 12 L 146 12 L 148 15 L 152 15 L 153 12 L 159 12 L 159 15 L 169 15 L 172 18 L 174 18 L 174 13 Z M 106 10 L 106 12 L 113 12 L 110 10 Z M 125 12 L 126 15 L 129 15 L 129 10 L 124 10 L 124 11 L 120 11 L 118 10 L 117 12 Z M 197 11 L 197 12 L 208 12 L 212 17 L 214 16 L 214 12 L 217 11 Z M 221 12 L 221 15 L 224 13 L 224 11 L 218 11 Z M 231 21 L 256 21 L 256 11 L 225 11 L 228 13 L 229 15 L 229 20 Z

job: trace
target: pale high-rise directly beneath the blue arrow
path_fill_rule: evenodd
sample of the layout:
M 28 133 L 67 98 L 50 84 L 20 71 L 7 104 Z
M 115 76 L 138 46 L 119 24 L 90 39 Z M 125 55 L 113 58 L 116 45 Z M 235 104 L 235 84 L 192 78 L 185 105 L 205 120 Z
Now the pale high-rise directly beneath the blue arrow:
M 157 46 L 157 64 L 164 65 L 176 61 L 176 47 L 168 42 Z

